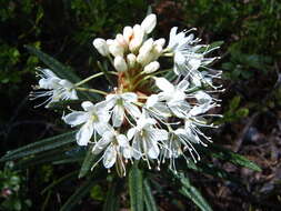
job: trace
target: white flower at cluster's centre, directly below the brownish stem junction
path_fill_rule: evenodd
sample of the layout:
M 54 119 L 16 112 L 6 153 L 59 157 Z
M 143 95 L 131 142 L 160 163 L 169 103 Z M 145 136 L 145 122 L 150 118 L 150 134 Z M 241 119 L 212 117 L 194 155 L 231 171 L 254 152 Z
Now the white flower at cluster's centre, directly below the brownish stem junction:
M 120 127 L 126 118 L 126 111 L 137 119 L 141 112 L 133 103 L 138 102 L 138 96 L 133 92 L 126 92 L 121 94 L 109 94 L 104 102 L 108 110 L 112 109 L 113 127 Z

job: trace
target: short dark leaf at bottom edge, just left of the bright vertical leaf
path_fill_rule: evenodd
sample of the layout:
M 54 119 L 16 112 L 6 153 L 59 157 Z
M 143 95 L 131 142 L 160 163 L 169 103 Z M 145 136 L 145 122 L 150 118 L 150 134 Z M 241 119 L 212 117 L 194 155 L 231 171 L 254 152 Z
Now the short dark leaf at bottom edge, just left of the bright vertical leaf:
M 106 199 L 106 203 L 102 209 L 103 211 L 119 210 L 119 195 L 117 192 L 118 191 L 117 187 L 118 187 L 117 182 L 112 183 L 112 185 L 110 187 Z

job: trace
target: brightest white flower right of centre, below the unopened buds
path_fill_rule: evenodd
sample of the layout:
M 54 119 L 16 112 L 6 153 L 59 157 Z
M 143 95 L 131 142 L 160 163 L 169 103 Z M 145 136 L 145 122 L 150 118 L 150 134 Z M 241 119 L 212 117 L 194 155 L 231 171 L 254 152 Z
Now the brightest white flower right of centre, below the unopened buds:
M 165 78 L 154 78 L 157 87 L 162 91 L 158 93 L 160 101 L 165 101 L 171 111 L 179 118 L 184 118 L 190 109 L 185 101 L 187 94 L 184 91 L 189 87 L 187 80 L 182 80 L 179 84 L 173 86 Z

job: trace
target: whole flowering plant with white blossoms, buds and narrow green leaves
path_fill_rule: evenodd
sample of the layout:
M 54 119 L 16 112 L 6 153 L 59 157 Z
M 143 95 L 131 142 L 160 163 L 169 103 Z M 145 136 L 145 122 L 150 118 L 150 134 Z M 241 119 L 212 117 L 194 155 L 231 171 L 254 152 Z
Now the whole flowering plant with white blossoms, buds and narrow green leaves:
M 97 62 L 101 71 L 83 80 L 71 68 L 27 47 L 50 68 L 38 69 L 40 80 L 31 99 L 46 98 L 39 105 L 62 108 L 62 121 L 71 132 L 9 151 L 1 161 L 22 159 L 21 167 L 78 162 L 81 165 L 78 175 L 87 180 L 61 210 L 70 210 L 102 179 L 112 183 L 104 210 L 116 208 L 112 195 L 119 195 L 126 187 L 126 175 L 131 210 L 142 211 L 143 204 L 155 210 L 149 181 L 158 175 L 175 179 L 181 194 L 209 211 L 211 208 L 184 170 L 231 177 L 220 168 L 197 163 L 200 152 L 260 170 L 244 157 L 212 144 L 207 135 L 210 128 L 217 128 L 213 117 L 221 117 L 215 113 L 220 100 L 214 98 L 223 91 L 217 80 L 221 71 L 210 68 L 218 58 L 209 54 L 218 44 L 200 44 L 201 40 L 191 33 L 194 29 L 180 31 L 177 27 L 170 30 L 168 41 L 150 38 L 155 26 L 157 17 L 151 13 L 140 24 L 124 27 L 114 39 L 96 38 L 93 47 L 104 60 Z M 101 78 L 109 86 L 90 87 L 90 80 Z

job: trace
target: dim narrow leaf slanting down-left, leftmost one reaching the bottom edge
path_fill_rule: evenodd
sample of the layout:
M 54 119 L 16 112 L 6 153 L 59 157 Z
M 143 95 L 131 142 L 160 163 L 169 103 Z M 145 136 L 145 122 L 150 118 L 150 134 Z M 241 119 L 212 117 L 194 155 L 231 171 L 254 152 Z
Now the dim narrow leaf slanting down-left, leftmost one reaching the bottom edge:
M 79 203 L 79 201 L 90 192 L 91 188 L 94 185 L 97 181 L 91 178 L 89 178 L 87 181 L 83 182 L 82 185 L 80 185 L 77 191 L 68 199 L 68 201 L 62 205 L 60 211 L 69 211 L 72 210 L 74 205 Z

